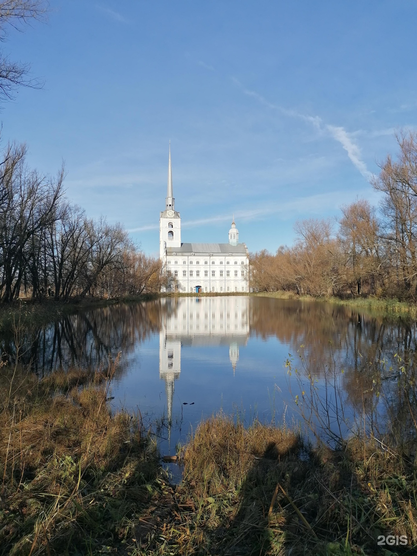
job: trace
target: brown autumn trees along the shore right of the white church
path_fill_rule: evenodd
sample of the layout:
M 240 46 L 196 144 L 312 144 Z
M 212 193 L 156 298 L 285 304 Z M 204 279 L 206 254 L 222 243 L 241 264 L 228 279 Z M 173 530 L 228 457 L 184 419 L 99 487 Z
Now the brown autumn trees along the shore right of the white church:
M 386 156 L 370 180 L 379 207 L 358 199 L 336 220 L 297 221 L 294 245 L 251 256 L 255 290 L 417 299 L 417 133 L 396 140 L 398 157 Z

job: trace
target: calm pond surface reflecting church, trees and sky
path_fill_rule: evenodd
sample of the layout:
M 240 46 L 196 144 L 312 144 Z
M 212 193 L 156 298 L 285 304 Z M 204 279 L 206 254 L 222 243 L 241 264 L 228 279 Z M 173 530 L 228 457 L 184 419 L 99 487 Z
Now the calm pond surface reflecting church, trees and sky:
M 415 322 L 319 302 L 261 297 L 182 297 L 120 304 L 63 317 L 26 338 L 24 359 L 47 374 L 60 366 L 106 365 L 121 352 L 113 404 L 142 416 L 172 419 L 162 450 L 173 452 L 204 416 L 223 409 L 291 420 L 299 353 L 319 389 L 325 370 L 343 369 L 346 406 L 372 398 L 376 362 L 384 384 L 395 384 L 393 354 L 413 354 Z M 13 356 L 12 340 L 1 339 Z M 381 370 L 381 360 L 385 360 Z M 365 394 L 364 394 L 365 392 Z M 364 398 L 365 395 L 365 398 Z M 180 421 L 180 425 L 177 425 Z

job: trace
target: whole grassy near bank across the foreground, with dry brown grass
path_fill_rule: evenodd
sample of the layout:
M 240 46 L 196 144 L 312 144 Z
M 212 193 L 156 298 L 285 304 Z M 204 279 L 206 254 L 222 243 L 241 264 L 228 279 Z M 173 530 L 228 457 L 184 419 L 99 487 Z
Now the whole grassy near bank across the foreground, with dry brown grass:
M 380 534 L 415 550 L 413 454 L 218 415 L 170 485 L 152 426 L 108 408 L 114 370 L 1 369 L 0 554 L 384 554 Z

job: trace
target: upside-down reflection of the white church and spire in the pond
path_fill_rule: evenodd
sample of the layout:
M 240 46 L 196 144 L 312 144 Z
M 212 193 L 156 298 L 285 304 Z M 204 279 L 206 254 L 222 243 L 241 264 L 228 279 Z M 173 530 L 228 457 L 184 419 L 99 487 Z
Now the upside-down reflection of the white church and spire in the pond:
M 172 420 L 175 380 L 181 373 L 182 346 L 226 346 L 233 374 L 239 346 L 249 337 L 248 297 L 180 297 L 162 300 L 159 375 L 165 380 L 168 418 Z

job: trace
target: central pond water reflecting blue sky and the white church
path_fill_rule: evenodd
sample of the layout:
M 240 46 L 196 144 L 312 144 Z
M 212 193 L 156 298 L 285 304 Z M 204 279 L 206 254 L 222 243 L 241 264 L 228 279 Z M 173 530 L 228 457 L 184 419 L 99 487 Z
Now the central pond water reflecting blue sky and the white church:
M 190 424 L 195 428 L 220 409 L 270 420 L 275 405 L 280 417 L 283 396 L 289 396 L 283 366 L 288 351 L 276 337 L 250 336 L 247 297 L 181 298 L 175 311 L 163 315 L 160 333 L 137 345 L 112 395 L 142 415 L 163 413 L 173 423 L 182 417 L 181 432 L 174 426 L 171 433 L 172 451 Z M 275 385 L 282 394 L 274 394 Z M 162 449 L 169 449 L 166 442 Z

